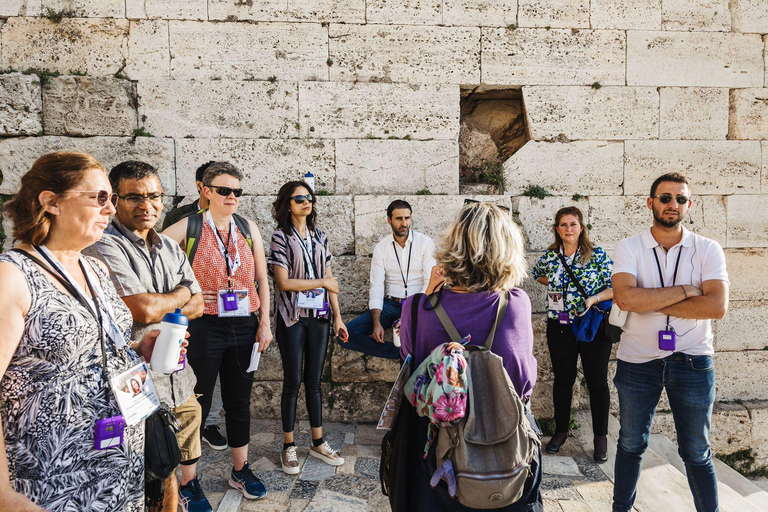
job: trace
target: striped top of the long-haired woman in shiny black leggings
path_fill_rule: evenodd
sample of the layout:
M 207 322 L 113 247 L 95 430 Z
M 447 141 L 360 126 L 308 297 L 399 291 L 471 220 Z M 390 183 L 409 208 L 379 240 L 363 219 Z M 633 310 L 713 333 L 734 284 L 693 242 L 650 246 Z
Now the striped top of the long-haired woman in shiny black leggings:
M 309 279 L 307 259 L 301 244 L 304 242 L 295 233 L 286 235 L 282 229 L 272 233 L 272 246 L 269 249 L 269 275 L 275 278 L 273 265 L 279 265 L 288 270 L 291 279 Z M 312 233 L 312 259 L 315 263 L 315 273 L 318 279 L 326 276 L 326 270 L 331 266 L 333 256 L 328 246 L 328 237 L 315 228 Z M 279 293 L 278 293 L 279 292 Z M 275 316 L 278 314 L 287 327 L 298 322 L 299 317 L 310 317 L 313 310 L 296 307 L 297 292 L 279 291 L 275 285 Z

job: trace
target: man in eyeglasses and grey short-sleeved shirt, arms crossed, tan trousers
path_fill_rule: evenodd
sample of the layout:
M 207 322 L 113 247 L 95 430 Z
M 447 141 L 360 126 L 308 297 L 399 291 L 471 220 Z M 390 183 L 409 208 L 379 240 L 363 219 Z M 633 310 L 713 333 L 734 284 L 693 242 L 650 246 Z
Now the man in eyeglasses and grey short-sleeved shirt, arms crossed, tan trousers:
M 201 316 L 203 294 L 184 251 L 154 229 L 163 211 L 157 169 L 144 162 L 123 162 L 110 171 L 109 181 L 116 192 L 115 216 L 102 239 L 83 252 L 109 267 L 115 289 L 133 315 L 133 336 L 158 328 L 163 316 L 175 308 L 190 320 Z M 150 509 L 157 510 L 162 503 L 162 510 L 175 511 L 180 497 L 187 512 L 211 511 L 197 480 L 202 409 L 194 394 L 192 368 L 183 365 L 170 375 L 152 372 L 152 381 L 160 401 L 181 423 L 176 436 L 182 488 L 179 492 L 176 475 L 171 474 L 163 484 L 164 493 L 150 492 Z M 148 489 L 152 485 L 148 482 Z

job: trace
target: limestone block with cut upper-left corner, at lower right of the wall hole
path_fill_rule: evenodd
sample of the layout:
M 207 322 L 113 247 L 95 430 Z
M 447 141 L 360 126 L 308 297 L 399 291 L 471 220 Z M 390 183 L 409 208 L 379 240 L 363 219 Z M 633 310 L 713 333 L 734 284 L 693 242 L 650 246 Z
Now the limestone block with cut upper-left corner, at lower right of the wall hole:
M 621 142 L 529 141 L 504 162 L 504 190 L 521 195 L 540 186 L 554 195 L 618 194 L 624 181 Z

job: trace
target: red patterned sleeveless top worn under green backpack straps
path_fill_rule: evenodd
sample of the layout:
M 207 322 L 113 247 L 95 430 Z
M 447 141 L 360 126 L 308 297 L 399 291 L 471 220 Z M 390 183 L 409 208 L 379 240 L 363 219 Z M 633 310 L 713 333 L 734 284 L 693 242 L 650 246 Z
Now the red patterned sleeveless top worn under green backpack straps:
M 237 249 L 240 251 L 240 267 L 232 276 L 233 290 L 248 290 L 250 311 L 253 313 L 261 306 L 259 295 L 256 293 L 256 266 L 253 262 L 253 252 L 248 246 L 245 237 L 237 229 Z M 222 240 L 226 243 L 229 237 L 229 229 L 219 230 Z M 230 241 L 230 251 L 234 251 L 234 244 Z M 231 253 L 230 253 L 231 254 Z M 197 253 L 192 261 L 192 271 L 195 273 L 200 288 L 207 291 L 219 291 L 229 288 L 227 284 L 227 267 L 224 255 L 219 250 L 216 234 L 207 222 L 203 222 L 203 231 L 200 233 L 200 242 L 197 245 Z M 218 315 L 219 304 L 205 303 L 203 313 L 206 315 Z

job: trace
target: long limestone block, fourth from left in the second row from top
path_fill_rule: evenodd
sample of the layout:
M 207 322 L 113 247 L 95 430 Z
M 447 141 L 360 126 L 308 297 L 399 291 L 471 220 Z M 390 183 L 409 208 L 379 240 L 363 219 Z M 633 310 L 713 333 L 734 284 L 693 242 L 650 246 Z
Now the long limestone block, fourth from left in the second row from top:
M 332 25 L 329 33 L 331 81 L 480 83 L 479 28 Z

